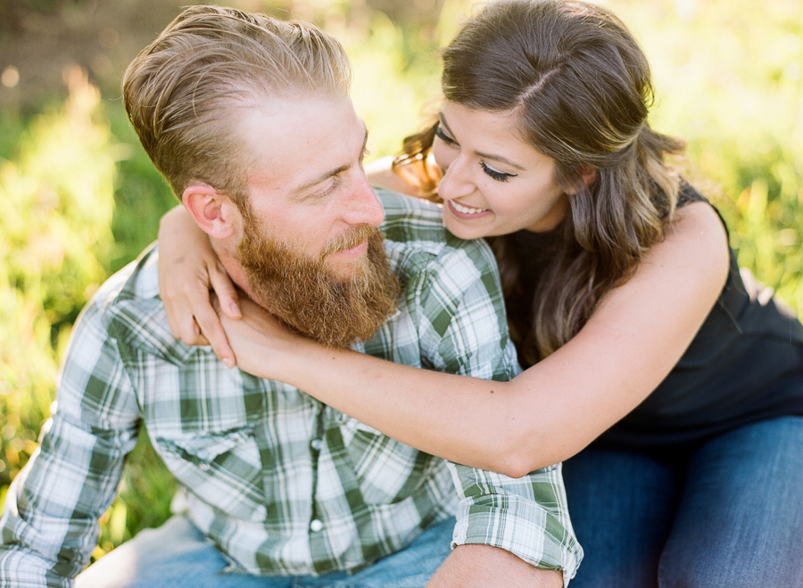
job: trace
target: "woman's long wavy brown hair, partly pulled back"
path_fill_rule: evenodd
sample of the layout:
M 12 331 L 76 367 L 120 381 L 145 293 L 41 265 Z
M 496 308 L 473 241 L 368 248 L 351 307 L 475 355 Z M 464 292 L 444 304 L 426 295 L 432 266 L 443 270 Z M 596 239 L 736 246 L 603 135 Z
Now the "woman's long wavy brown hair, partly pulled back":
M 489 239 L 519 359 L 532 365 L 576 335 L 663 238 L 679 184 L 664 160 L 684 144 L 647 124 L 646 57 L 616 16 L 592 4 L 488 4 L 444 49 L 442 82 L 446 100 L 515 112 L 521 137 L 556 162 L 567 189 L 570 211 L 533 293 L 522 288 L 514 240 Z M 432 128 L 408 137 L 394 163 L 431 193 L 439 178 L 426 164 L 433 140 Z M 591 186 L 582 170 L 595 170 Z

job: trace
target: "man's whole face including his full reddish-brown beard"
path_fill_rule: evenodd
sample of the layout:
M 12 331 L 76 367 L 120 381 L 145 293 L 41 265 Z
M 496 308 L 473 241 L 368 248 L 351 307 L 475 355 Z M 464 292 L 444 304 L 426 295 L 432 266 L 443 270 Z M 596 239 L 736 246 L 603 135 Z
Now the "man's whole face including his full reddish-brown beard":
M 237 247 L 249 294 L 322 343 L 367 339 L 400 290 L 376 228 L 384 213 L 362 172 L 365 128 L 347 101 L 253 114 L 246 147 L 256 166 Z M 279 157 L 277 145 L 287 146 Z

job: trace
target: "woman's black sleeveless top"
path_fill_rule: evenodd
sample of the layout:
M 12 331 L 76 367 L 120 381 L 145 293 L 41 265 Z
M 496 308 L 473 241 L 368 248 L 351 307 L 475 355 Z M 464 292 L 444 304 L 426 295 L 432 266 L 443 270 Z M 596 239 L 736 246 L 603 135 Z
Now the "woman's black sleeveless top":
M 708 202 L 688 184 L 678 206 Z M 513 235 L 522 281 L 533 292 L 539 260 L 557 233 Z M 767 295 L 730 251 L 722 294 L 675 368 L 601 443 L 661 446 L 693 442 L 784 414 L 803 415 L 803 326 Z

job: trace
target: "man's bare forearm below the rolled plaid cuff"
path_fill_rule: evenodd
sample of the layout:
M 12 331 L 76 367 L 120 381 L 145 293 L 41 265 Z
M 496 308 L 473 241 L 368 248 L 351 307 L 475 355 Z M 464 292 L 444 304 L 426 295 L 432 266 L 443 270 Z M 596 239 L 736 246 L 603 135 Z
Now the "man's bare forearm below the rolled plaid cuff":
M 538 569 L 509 551 L 490 545 L 459 545 L 426 588 L 560 588 L 563 574 Z

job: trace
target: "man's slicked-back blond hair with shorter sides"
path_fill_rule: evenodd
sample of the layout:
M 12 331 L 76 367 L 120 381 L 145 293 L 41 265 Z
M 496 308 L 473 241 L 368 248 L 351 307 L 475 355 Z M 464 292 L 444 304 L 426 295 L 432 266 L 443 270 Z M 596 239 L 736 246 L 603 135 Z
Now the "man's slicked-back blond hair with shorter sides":
M 122 95 L 145 152 L 179 199 L 200 182 L 241 206 L 250 159 L 236 137 L 236 108 L 345 96 L 350 85 L 343 46 L 314 25 L 190 6 L 131 62 Z

